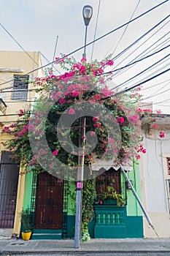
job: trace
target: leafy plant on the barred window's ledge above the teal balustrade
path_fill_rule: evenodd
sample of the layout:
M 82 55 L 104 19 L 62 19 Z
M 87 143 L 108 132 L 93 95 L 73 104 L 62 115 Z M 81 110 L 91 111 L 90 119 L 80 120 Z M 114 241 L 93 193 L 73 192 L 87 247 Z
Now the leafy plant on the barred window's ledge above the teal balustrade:
M 107 192 L 104 192 L 101 194 L 101 199 L 103 200 L 103 203 L 106 205 L 117 205 L 117 206 L 123 206 L 124 200 L 123 195 L 119 194 L 115 191 L 114 187 L 108 186 Z

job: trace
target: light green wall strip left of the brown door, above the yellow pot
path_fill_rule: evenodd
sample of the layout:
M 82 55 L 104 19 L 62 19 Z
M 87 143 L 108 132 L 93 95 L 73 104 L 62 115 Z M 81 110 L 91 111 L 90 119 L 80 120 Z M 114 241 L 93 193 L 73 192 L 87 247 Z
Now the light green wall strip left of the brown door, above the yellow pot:
M 26 186 L 24 191 L 23 208 L 30 208 L 31 206 L 32 177 L 32 172 L 26 174 Z

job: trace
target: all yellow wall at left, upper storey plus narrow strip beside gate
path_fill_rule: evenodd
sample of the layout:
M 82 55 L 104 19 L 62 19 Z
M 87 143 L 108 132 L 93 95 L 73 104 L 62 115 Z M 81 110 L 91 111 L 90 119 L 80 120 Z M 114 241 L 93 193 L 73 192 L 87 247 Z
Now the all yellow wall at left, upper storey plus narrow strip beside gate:
M 17 120 L 18 115 L 12 116 L 12 114 L 17 114 L 20 109 L 30 109 L 34 104 L 35 97 L 38 94 L 33 91 L 28 91 L 27 101 L 13 101 L 12 97 L 12 86 L 13 86 L 13 75 L 26 75 L 34 69 L 42 67 L 41 56 L 39 52 L 27 52 L 22 51 L 0 51 L 0 99 L 3 99 L 7 105 L 6 113 L 2 113 L 0 110 L 0 157 L 1 151 L 5 150 L 3 142 L 9 140 L 12 135 L 2 132 L 1 129 L 8 127 L 14 121 Z M 18 70 L 20 72 L 18 72 Z M 43 69 L 36 70 L 29 74 L 29 80 L 34 81 L 36 77 L 43 77 Z M 3 90 L 4 89 L 4 90 Z M 35 89 L 32 83 L 28 84 L 28 90 Z M 20 167 L 21 168 L 21 167 Z M 21 170 L 20 170 L 21 171 Z M 13 233 L 20 233 L 20 217 L 19 212 L 23 208 L 23 196 L 25 190 L 25 176 L 20 176 L 18 178 L 18 195 L 15 211 L 15 222 Z

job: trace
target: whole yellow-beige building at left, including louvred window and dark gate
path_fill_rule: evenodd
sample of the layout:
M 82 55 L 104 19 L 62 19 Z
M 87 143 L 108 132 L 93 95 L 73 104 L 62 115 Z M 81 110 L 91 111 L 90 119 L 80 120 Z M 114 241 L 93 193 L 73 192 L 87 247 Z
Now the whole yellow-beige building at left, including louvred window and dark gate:
M 20 230 L 19 212 L 23 207 L 25 176 L 12 165 L 3 143 L 9 140 L 6 127 L 15 124 L 19 110 L 29 110 L 36 94 L 34 80 L 43 77 L 39 52 L 0 51 L 0 229 Z M 16 214 L 15 214 L 16 213 Z M 1 232 L 0 232 L 1 233 Z

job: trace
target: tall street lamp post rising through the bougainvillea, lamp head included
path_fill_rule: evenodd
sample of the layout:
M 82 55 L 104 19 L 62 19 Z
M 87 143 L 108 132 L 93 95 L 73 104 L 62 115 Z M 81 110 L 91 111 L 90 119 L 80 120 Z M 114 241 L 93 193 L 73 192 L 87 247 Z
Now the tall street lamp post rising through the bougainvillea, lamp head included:
M 82 16 L 85 21 L 85 46 L 87 39 L 88 24 L 93 14 L 93 8 L 90 5 L 85 5 L 82 9 Z M 82 57 L 86 58 L 85 48 Z M 84 158 L 85 158 L 85 117 L 80 118 L 80 139 L 79 139 L 79 157 L 78 157 L 78 173 L 77 173 L 77 187 L 76 187 L 76 218 L 75 218 L 75 233 L 74 233 L 74 248 L 80 248 L 80 230 L 82 219 L 82 187 L 84 175 Z

